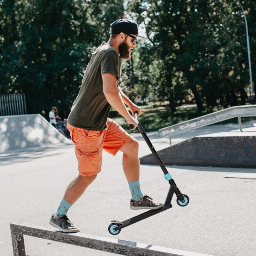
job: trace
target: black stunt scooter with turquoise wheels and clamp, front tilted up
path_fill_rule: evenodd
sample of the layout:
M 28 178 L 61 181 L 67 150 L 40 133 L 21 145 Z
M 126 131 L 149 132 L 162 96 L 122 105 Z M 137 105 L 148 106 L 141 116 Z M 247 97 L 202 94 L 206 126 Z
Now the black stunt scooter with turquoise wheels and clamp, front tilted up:
M 138 117 L 138 112 L 136 111 L 134 113 L 134 117 L 137 119 Z M 134 128 L 134 126 L 132 124 L 129 125 L 129 128 L 132 130 Z M 174 180 L 172 179 L 170 173 L 166 170 L 163 161 L 161 160 L 161 158 L 158 156 L 156 149 L 153 147 L 152 143 L 150 142 L 150 140 L 148 139 L 148 136 L 146 134 L 146 132 L 144 131 L 143 127 L 141 126 L 141 124 L 138 124 L 138 128 L 140 130 L 141 135 L 143 136 L 143 138 L 145 139 L 145 141 L 148 144 L 148 147 L 150 148 L 151 152 L 153 153 L 153 155 L 156 158 L 157 163 L 160 165 L 161 169 L 164 172 L 164 178 L 166 181 L 169 182 L 170 184 L 170 189 L 169 192 L 167 194 L 167 197 L 165 199 L 164 202 L 164 206 L 160 209 L 156 209 L 156 210 L 149 210 L 147 212 L 141 213 L 131 219 L 128 220 L 124 220 L 124 221 L 117 221 L 117 220 L 112 220 L 111 224 L 108 226 L 108 231 L 111 235 L 117 235 L 120 233 L 122 228 L 125 228 L 127 226 L 130 226 L 140 220 L 144 220 L 152 215 L 155 215 L 159 212 L 163 212 L 167 209 L 172 208 L 172 204 L 171 204 L 171 200 L 172 200 L 172 196 L 175 193 L 177 196 L 176 202 L 178 205 L 180 206 L 186 206 L 189 203 L 189 198 L 187 195 L 181 194 L 179 188 L 177 187 L 177 185 L 175 184 Z

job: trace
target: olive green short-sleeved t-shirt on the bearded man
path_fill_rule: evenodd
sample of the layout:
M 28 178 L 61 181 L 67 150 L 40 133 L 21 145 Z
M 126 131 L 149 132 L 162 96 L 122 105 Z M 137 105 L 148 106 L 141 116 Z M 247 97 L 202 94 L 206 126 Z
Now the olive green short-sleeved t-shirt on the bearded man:
M 88 63 L 80 91 L 73 103 L 68 123 L 88 130 L 106 128 L 110 105 L 103 93 L 101 75 L 111 73 L 116 76 L 116 86 L 121 78 L 121 57 L 115 48 L 103 42 L 92 54 Z

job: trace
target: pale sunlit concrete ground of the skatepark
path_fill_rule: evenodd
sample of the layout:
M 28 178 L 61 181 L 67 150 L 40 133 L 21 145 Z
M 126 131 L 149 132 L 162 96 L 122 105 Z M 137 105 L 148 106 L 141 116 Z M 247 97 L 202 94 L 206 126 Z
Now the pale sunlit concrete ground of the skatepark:
M 237 125 L 222 128 L 235 130 Z M 205 127 L 201 134 L 205 134 L 207 129 L 213 133 L 217 128 Z M 174 139 L 193 137 L 198 130 L 176 135 Z M 158 138 L 156 134 L 149 133 L 156 150 L 170 145 L 169 138 Z M 134 137 L 140 143 L 140 156 L 149 154 L 141 135 L 136 133 Z M 70 208 L 68 216 L 86 234 L 214 256 L 255 256 L 256 180 L 225 176 L 234 172 L 256 173 L 256 169 L 189 166 L 167 166 L 167 169 L 181 192 L 189 196 L 188 206 L 178 206 L 173 198 L 170 210 L 112 236 L 108 233 L 111 220 L 123 221 L 143 210 L 130 210 L 130 191 L 122 171 L 121 152 L 115 157 L 103 152 L 102 171 Z M 76 175 L 77 162 L 72 145 L 0 154 L 1 256 L 13 255 L 9 223 L 21 221 L 48 226 L 66 187 Z M 140 184 L 143 193 L 156 201 L 165 200 L 169 184 L 164 180 L 160 167 L 141 165 Z M 26 255 L 30 256 L 116 255 L 27 236 L 25 246 Z

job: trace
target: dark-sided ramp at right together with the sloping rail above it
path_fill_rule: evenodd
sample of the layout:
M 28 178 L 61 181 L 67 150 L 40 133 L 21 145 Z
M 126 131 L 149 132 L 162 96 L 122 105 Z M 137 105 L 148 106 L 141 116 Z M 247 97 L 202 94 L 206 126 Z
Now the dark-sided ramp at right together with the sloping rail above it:
M 256 116 L 256 105 L 226 108 L 158 130 L 159 137 L 171 136 L 238 117 L 239 130 L 205 134 L 158 151 L 164 164 L 256 168 L 256 129 L 242 129 L 241 117 Z M 141 164 L 157 164 L 153 154 Z

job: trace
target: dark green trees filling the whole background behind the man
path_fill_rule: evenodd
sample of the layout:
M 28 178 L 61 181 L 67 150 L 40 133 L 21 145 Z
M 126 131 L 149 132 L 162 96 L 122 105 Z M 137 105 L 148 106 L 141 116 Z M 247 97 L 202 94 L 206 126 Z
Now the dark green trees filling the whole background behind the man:
M 256 3 L 242 4 L 253 70 Z M 67 117 L 93 51 L 125 15 L 148 36 L 123 62 L 120 86 L 130 99 L 168 101 L 172 113 L 188 102 L 198 113 L 246 103 L 244 17 L 227 0 L 0 0 L 0 93 L 25 93 L 29 113 L 55 105 Z

